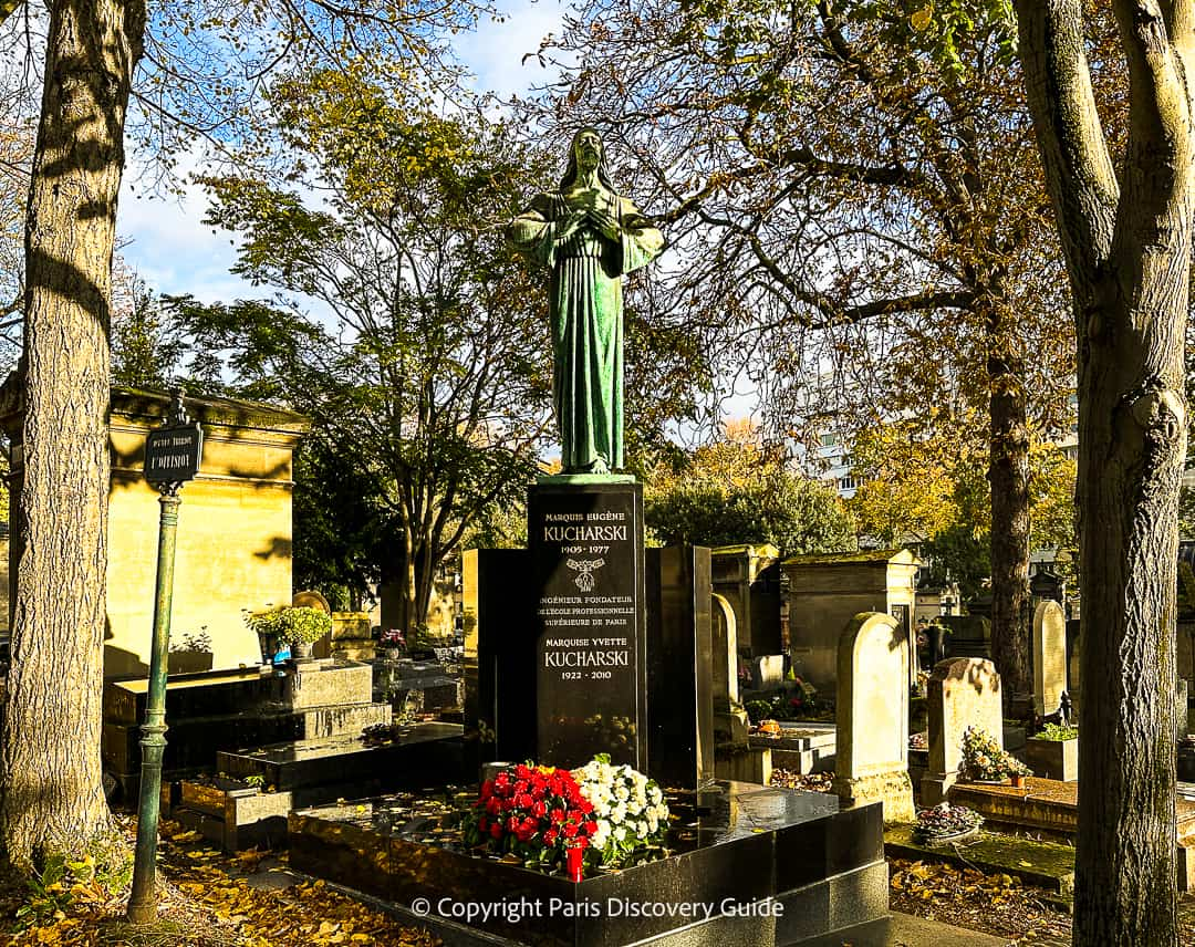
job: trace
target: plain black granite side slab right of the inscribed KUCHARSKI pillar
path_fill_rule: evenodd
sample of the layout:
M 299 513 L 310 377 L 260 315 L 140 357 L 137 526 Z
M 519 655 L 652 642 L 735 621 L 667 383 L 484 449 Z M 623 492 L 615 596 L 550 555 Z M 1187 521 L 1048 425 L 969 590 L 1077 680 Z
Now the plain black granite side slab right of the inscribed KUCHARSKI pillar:
M 710 551 L 646 552 L 648 775 L 693 789 L 713 781 Z

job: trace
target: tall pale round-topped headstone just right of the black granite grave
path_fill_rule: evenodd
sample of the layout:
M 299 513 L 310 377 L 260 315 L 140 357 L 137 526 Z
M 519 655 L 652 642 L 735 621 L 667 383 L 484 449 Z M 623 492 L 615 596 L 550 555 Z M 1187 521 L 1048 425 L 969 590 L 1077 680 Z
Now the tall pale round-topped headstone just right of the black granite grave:
M 834 792 L 883 803 L 884 822 L 913 822 L 908 779 L 908 635 L 890 615 L 864 611 L 838 646 Z

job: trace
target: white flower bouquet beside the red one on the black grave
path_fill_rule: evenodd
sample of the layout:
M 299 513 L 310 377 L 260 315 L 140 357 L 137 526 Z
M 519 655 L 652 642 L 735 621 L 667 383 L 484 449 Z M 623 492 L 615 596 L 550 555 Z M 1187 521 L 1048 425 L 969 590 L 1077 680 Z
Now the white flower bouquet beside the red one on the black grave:
M 637 848 L 658 842 L 668 829 L 668 804 L 654 780 L 629 765 L 615 765 L 599 754 L 572 770 L 581 794 L 593 804 L 596 830 L 589 838 L 589 860 L 625 863 Z

